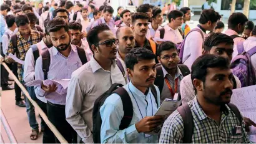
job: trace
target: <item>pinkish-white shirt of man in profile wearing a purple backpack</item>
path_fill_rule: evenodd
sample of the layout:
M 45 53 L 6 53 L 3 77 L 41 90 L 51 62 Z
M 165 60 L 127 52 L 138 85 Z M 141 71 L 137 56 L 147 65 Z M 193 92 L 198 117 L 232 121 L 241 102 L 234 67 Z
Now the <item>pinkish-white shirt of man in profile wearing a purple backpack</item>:
M 195 27 L 195 29 L 200 28 Z M 202 31 L 202 29 L 200 29 L 200 31 Z M 204 34 L 205 39 L 205 37 L 208 35 L 204 31 L 202 31 L 202 33 Z M 190 34 L 188 34 L 186 37 L 182 62 L 184 65 L 189 67 L 189 70 L 191 70 L 191 66 L 195 59 L 200 57 L 200 55 L 203 53 L 204 39 L 202 39 L 200 32 L 197 31 L 190 32 Z

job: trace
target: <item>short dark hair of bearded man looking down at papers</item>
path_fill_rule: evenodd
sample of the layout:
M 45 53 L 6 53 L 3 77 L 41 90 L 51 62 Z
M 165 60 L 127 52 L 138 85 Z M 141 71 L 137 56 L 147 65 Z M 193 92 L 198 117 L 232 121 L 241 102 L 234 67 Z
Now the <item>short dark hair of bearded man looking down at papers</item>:
M 64 28 L 66 32 L 69 31 L 69 26 L 67 22 L 65 22 L 65 20 L 61 17 L 56 17 L 47 24 L 47 34 L 49 34 L 50 32 L 57 32 L 62 28 Z

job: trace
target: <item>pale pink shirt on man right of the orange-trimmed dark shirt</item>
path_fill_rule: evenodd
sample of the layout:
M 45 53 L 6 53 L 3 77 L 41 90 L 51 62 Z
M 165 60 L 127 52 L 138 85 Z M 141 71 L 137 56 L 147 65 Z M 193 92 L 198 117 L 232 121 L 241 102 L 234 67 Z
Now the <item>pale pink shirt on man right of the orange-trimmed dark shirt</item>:
M 160 31 L 155 32 L 155 37 L 160 38 Z M 182 36 L 179 29 L 172 29 L 168 24 L 164 26 L 164 40 L 174 42 L 174 44 L 179 44 L 182 42 Z

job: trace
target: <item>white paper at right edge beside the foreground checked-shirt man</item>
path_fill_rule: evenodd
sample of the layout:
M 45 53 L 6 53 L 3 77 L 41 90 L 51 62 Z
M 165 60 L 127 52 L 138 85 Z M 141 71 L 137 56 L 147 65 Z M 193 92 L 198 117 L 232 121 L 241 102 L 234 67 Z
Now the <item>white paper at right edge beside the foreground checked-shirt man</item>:
M 240 112 L 256 112 L 256 85 L 234 89 L 230 103 L 236 105 Z

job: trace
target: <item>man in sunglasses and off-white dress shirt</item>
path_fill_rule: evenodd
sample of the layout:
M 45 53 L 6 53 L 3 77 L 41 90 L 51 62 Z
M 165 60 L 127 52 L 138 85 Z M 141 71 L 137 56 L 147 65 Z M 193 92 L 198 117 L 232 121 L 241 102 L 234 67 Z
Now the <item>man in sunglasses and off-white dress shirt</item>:
M 67 89 L 66 120 L 82 142 L 93 143 L 92 110 L 95 100 L 112 84 L 125 85 L 126 80 L 116 61 L 119 41 L 109 26 L 100 24 L 93 27 L 87 34 L 87 41 L 94 56 L 72 74 Z

